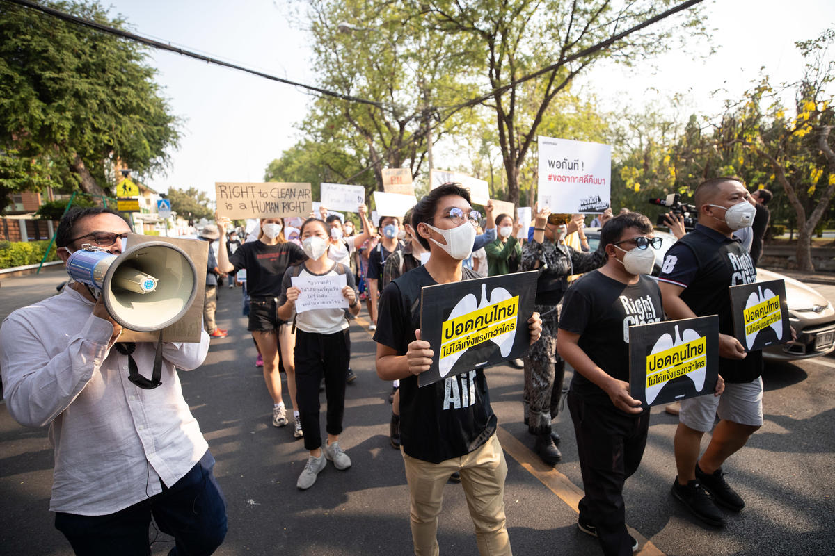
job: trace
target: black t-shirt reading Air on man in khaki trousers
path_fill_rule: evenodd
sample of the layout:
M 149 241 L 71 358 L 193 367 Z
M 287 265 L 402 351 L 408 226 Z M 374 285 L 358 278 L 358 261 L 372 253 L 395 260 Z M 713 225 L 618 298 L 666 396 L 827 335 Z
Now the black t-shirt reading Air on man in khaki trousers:
M 481 278 L 468 268 L 463 279 Z M 405 355 L 420 328 L 421 288 L 435 282 L 426 268 L 404 273 L 382 291 L 374 341 Z M 483 445 L 496 431 L 496 416 L 483 371 L 472 370 L 418 388 L 400 380 L 400 443 L 412 458 L 440 463 Z

